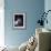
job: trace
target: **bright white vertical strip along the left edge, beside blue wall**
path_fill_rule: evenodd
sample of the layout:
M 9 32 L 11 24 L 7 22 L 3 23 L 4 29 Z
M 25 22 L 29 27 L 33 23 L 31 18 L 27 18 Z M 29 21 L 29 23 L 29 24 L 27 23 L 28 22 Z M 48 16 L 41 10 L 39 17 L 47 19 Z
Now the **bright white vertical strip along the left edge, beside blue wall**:
M 0 0 L 0 47 L 4 45 L 4 0 Z

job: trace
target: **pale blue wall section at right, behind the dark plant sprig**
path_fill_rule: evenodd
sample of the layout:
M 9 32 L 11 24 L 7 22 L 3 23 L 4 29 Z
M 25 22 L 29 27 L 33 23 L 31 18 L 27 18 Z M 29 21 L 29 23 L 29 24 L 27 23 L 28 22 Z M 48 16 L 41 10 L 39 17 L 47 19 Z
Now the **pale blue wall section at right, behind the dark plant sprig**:
M 47 12 L 48 10 L 51 10 L 51 0 L 45 0 L 44 1 L 44 11 Z M 48 24 L 44 24 L 44 28 L 50 29 L 51 30 L 51 11 L 48 13 Z

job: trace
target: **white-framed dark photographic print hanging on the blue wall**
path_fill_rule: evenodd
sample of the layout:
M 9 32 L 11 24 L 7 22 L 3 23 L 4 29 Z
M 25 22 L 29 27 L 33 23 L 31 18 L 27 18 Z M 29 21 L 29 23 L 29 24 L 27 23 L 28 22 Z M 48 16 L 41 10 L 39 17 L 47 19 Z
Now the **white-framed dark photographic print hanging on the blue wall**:
M 13 28 L 26 29 L 26 13 L 13 13 Z

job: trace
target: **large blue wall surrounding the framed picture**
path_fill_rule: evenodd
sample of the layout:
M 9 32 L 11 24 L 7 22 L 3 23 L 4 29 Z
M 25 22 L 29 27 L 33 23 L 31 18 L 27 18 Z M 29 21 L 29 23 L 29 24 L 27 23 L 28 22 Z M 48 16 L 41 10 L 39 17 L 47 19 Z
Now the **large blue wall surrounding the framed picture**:
M 43 0 L 4 0 L 4 39 L 6 44 L 19 45 L 34 34 L 35 22 L 40 19 L 39 13 L 44 10 Z M 27 13 L 27 29 L 14 30 L 12 18 L 14 12 Z

